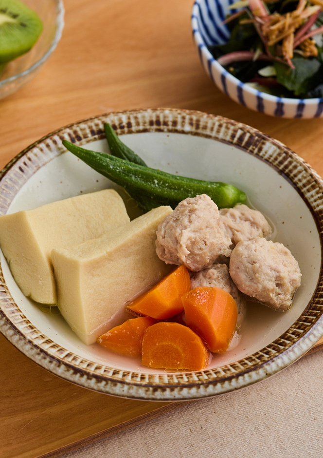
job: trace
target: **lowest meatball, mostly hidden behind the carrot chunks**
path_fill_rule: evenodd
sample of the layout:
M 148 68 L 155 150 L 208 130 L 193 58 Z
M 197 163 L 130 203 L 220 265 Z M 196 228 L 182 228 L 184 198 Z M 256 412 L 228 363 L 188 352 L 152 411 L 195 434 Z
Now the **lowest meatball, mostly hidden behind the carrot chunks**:
M 199 272 L 194 272 L 191 276 L 191 286 L 192 289 L 197 286 L 215 286 L 231 294 L 238 308 L 237 327 L 241 326 L 246 314 L 246 303 L 243 295 L 234 285 L 226 264 L 214 264 Z

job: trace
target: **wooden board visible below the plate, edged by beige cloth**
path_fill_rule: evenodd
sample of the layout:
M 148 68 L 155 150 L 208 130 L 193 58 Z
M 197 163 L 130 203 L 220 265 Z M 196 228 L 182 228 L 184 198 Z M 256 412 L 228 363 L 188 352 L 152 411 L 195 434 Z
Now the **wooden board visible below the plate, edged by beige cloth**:
M 183 404 L 95 393 L 47 372 L 2 335 L 0 348 L 0 458 L 57 457 Z M 323 338 L 310 352 L 321 348 Z

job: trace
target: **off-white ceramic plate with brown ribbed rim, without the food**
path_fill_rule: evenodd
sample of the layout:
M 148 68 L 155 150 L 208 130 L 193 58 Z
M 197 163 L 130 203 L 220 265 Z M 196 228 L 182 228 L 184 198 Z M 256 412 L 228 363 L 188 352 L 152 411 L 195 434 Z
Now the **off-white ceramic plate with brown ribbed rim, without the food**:
M 271 222 L 274 239 L 299 262 L 303 277 L 294 304 L 285 313 L 250 306 L 233 349 L 215 356 L 204 371 L 169 373 L 109 353 L 98 344 L 83 344 L 59 314 L 22 295 L 1 253 L 0 331 L 6 338 L 67 381 L 152 401 L 229 392 L 259 382 L 304 355 L 323 336 L 323 183 L 295 153 L 251 127 L 175 109 L 111 113 L 78 122 L 42 138 L 3 169 L 1 214 L 115 187 L 61 144 L 67 139 L 108 152 L 104 122 L 153 168 L 224 181 L 245 191 L 249 203 Z

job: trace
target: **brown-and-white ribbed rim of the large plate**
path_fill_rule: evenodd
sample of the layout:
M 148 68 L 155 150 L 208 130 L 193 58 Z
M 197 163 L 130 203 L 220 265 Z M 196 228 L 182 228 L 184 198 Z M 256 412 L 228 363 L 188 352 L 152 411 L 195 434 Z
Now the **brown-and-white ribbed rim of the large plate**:
M 319 232 L 323 259 L 321 177 L 297 154 L 268 135 L 222 116 L 190 110 L 156 108 L 108 113 L 70 124 L 42 137 L 19 153 L 0 172 L 0 213 L 6 212 L 15 193 L 40 167 L 66 151 L 61 145 L 63 139 L 82 145 L 104 138 L 104 122 L 110 122 L 119 135 L 174 132 L 215 138 L 265 161 L 297 189 L 310 209 Z M 11 185 L 17 180 L 16 191 L 4 186 L 7 178 Z M 249 357 L 215 369 L 147 374 L 119 370 L 74 355 L 41 334 L 24 317 L 4 282 L 1 266 L 0 332 L 43 368 L 94 391 L 151 401 L 184 401 L 215 396 L 251 385 L 279 372 L 320 340 L 323 336 L 322 266 L 311 301 L 284 334 Z

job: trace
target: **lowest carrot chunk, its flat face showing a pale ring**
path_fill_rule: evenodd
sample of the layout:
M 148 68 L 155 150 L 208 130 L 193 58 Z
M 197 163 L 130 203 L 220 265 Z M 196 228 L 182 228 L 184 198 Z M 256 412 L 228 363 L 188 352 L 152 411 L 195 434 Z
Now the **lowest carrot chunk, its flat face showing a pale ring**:
M 210 353 L 187 326 L 159 322 L 144 331 L 142 364 L 156 369 L 202 370 Z

